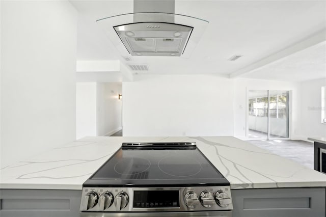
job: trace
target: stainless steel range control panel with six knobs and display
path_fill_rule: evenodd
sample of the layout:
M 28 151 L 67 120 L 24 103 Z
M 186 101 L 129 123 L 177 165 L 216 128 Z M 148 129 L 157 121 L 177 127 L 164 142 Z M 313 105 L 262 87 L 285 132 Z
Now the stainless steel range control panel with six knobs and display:
M 230 186 L 83 187 L 81 212 L 232 210 Z

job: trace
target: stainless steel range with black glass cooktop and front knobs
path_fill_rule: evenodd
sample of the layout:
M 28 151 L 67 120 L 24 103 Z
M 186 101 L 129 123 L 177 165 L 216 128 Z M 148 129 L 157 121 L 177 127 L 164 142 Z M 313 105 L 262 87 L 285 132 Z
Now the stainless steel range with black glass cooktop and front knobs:
M 228 216 L 230 183 L 196 143 L 123 143 L 84 184 L 80 216 Z

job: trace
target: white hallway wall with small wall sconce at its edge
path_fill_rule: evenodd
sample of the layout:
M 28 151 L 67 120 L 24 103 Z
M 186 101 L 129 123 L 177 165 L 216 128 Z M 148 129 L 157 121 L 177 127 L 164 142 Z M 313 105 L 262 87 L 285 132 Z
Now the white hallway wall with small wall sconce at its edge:
M 97 135 L 112 135 L 121 129 L 122 83 L 97 83 Z

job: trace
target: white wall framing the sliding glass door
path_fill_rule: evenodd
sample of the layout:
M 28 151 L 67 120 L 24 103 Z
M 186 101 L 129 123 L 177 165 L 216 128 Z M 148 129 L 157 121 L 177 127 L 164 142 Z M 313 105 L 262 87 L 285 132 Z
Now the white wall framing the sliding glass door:
M 290 137 L 300 137 L 300 84 L 297 82 L 280 82 L 275 80 L 261 80 L 236 78 L 234 80 L 234 136 L 246 138 L 247 91 L 248 90 L 292 90 L 290 94 Z

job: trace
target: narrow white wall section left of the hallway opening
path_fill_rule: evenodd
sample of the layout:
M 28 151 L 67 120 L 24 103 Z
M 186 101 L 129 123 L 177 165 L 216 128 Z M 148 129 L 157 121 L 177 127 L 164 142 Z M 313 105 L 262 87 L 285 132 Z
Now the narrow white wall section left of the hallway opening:
M 96 82 L 76 84 L 76 139 L 96 136 Z

